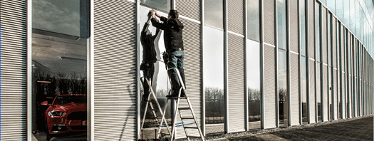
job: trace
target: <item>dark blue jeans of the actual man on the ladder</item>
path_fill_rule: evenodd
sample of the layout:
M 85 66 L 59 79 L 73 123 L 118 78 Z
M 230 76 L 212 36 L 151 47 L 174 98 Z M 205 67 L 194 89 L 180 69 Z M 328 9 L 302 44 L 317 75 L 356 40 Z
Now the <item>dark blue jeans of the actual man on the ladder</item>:
M 169 55 L 169 62 L 167 63 L 167 68 L 177 68 L 180 71 L 180 76 L 182 77 L 183 83 L 186 84 L 185 81 L 185 71 L 183 71 L 183 61 L 185 60 L 185 52 L 184 51 L 173 51 Z M 175 69 L 171 69 L 168 71 L 169 78 L 172 81 L 172 94 L 179 93 L 180 84 L 177 71 Z

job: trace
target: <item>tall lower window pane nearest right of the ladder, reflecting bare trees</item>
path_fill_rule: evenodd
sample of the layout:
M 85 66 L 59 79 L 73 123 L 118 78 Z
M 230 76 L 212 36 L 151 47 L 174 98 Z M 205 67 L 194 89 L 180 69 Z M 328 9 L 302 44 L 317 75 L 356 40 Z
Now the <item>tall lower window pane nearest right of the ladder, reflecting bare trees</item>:
M 224 132 L 224 32 L 204 26 L 206 133 Z

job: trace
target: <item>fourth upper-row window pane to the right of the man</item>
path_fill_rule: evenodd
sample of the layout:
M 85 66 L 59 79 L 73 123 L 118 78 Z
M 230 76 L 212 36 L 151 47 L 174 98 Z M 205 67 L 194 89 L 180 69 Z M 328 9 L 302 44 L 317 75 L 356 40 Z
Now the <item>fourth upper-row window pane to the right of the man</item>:
M 301 34 L 301 56 L 306 56 L 306 17 L 305 17 L 305 0 L 300 1 L 300 34 Z

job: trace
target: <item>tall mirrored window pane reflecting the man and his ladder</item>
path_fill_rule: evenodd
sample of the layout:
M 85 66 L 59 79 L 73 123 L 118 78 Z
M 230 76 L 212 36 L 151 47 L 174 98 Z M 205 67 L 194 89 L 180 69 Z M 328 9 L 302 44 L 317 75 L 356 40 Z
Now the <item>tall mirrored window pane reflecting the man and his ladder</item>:
M 149 6 L 140 6 L 140 63 L 144 66 L 150 66 L 149 68 L 145 67 L 144 70 L 140 71 L 140 78 L 142 78 L 142 83 L 140 85 L 140 100 L 145 101 L 140 104 L 140 123 L 143 124 L 141 129 L 141 137 L 143 140 L 155 139 L 156 132 L 154 128 L 158 127 L 157 117 L 152 113 L 152 108 L 150 108 L 150 103 L 147 106 L 147 99 L 150 98 L 153 108 L 155 109 L 156 116 L 161 117 L 157 102 L 160 104 L 160 107 L 165 108 L 168 92 L 170 90 L 170 82 L 167 78 L 167 71 L 165 63 L 163 62 L 162 52 L 165 51 L 164 45 L 164 31 L 157 31 L 155 26 L 152 26 L 152 23 L 147 23 L 148 16 L 147 14 L 152 8 Z M 160 16 L 167 16 L 166 13 L 162 11 L 157 11 L 157 14 Z M 157 60 L 157 61 L 155 61 Z M 141 67 L 140 67 L 141 68 Z M 143 81 L 144 78 L 150 81 L 150 85 Z M 151 93 L 152 90 L 155 93 L 155 97 Z M 148 90 L 145 90 L 148 89 Z M 147 106 L 147 110 L 145 110 Z M 171 124 L 171 110 L 170 103 L 167 105 L 167 112 L 165 113 L 165 119 L 168 124 Z M 144 117 L 145 116 L 145 117 Z M 143 120 L 144 119 L 144 120 Z M 158 129 L 158 128 L 157 128 Z M 162 127 L 161 132 L 167 132 L 166 127 Z M 164 136 L 161 136 L 164 137 Z

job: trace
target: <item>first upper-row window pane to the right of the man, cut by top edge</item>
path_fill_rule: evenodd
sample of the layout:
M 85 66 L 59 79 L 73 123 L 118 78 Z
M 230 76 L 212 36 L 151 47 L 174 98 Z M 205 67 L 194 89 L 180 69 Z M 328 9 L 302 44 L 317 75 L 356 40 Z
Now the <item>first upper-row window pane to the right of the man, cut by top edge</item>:
M 222 0 L 204 0 L 204 22 L 205 25 L 216 28 L 224 28 L 224 11 Z

